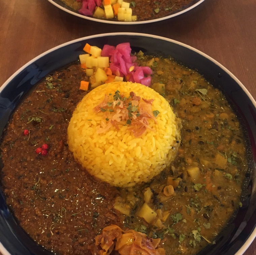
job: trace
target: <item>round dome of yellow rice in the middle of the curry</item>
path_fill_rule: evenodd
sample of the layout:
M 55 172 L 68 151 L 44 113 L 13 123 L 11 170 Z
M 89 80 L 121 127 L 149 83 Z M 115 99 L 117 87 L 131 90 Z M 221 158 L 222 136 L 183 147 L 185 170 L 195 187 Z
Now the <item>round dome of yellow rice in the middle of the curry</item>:
M 133 91 L 141 100 L 154 99 L 152 111 L 158 111 L 156 121 L 149 119 L 150 128 L 134 136 L 126 122 L 107 125 L 105 110 L 95 107 L 116 91 L 129 97 Z M 111 114 L 108 112 L 108 114 Z M 96 178 L 119 187 L 148 182 L 159 174 L 176 156 L 180 144 L 180 122 L 169 103 L 153 89 L 138 83 L 112 82 L 90 91 L 78 103 L 68 126 L 68 145 L 74 158 Z

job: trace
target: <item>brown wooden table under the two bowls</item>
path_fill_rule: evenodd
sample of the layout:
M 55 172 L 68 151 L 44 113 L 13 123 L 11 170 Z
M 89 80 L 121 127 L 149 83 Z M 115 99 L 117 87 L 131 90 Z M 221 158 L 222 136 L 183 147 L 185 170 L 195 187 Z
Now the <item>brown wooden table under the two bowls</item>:
M 47 0 L 0 0 L 0 86 L 32 58 L 80 37 L 137 32 L 168 37 L 213 57 L 256 98 L 255 0 L 205 0 L 162 22 L 109 25 L 66 13 Z M 245 255 L 256 254 L 256 240 Z

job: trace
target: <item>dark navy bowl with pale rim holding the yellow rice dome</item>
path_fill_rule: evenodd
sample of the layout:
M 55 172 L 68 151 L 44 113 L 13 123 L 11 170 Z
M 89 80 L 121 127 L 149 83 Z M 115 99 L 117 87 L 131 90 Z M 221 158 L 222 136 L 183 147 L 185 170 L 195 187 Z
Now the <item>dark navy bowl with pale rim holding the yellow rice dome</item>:
M 146 34 L 113 33 L 77 39 L 46 51 L 28 62 L 1 87 L 0 133 L 2 134 L 10 115 L 26 93 L 47 74 L 77 60 L 78 55 L 84 53 L 83 47 L 86 42 L 101 48 L 104 44 L 117 45 L 121 42 L 130 42 L 131 48 L 136 52 L 142 50 L 145 53 L 171 55 L 185 66 L 196 69 L 214 86 L 225 92 L 248 132 L 252 149 L 250 162 L 252 174 L 247 186 L 247 199 L 243 202 L 236 218 L 221 233 L 216 244 L 206 248 L 203 254 L 243 254 L 256 237 L 256 102 L 243 84 L 227 69 L 188 45 Z M 1 191 L 0 252 L 3 255 L 51 254 L 26 235 L 8 209 Z

